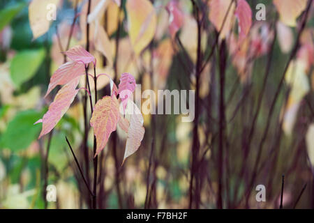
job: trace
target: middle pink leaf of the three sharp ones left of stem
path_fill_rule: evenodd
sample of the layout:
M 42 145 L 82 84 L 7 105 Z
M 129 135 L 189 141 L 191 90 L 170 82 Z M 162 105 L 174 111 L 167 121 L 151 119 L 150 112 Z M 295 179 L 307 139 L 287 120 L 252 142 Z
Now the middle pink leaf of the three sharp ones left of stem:
M 67 84 L 76 77 L 84 75 L 84 64 L 80 62 L 70 61 L 61 65 L 50 78 L 50 83 L 45 97 L 57 86 Z

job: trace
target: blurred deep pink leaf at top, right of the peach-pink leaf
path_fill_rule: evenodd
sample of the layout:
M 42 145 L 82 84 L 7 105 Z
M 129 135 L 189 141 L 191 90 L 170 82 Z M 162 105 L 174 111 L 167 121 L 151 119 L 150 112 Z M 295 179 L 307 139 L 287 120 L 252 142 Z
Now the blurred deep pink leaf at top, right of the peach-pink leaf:
M 237 8 L 235 10 L 239 22 L 239 36 L 240 40 L 244 40 L 250 31 L 252 25 L 252 10 L 246 0 L 238 0 Z

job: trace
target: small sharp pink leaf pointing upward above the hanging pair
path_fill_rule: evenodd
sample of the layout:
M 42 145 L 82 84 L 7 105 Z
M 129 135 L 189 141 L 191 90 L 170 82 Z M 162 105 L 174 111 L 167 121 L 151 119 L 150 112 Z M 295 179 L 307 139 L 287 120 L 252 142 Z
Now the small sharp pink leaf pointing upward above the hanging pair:
M 132 95 L 133 91 L 135 91 L 135 78 L 129 73 L 125 72 L 120 77 L 118 90 L 122 105 L 124 105 L 124 111 L 126 110 L 127 99 L 130 98 L 130 95 Z

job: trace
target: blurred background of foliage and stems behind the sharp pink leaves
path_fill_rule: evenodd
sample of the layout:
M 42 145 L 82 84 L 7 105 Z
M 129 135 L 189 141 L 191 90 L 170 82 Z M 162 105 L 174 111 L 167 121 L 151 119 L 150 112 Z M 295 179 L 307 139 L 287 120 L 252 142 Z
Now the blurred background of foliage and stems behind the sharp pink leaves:
M 142 91 L 197 92 L 196 121 L 144 115 L 142 144 L 122 167 L 126 135 L 119 128 L 112 135 L 98 156 L 98 208 L 278 208 L 283 174 L 284 208 L 314 208 L 313 4 L 305 13 L 310 1 L 295 1 L 301 10 L 293 24 L 293 12 L 281 11 L 280 3 L 247 0 L 252 26 L 239 42 L 235 16 L 218 38 L 215 20 L 223 16 L 214 1 L 91 0 L 91 13 L 99 10 L 89 36 L 98 74 L 119 84 L 121 73 L 130 72 Z M 47 9 L 0 1 L 0 208 L 91 207 L 65 140 L 91 183 L 93 131 L 84 128 L 84 115 L 91 115 L 89 107 L 84 114 L 84 90 L 52 137 L 38 140 L 41 124 L 33 125 L 57 92 L 44 98 L 50 76 L 67 61 L 61 52 L 87 43 L 89 1 L 53 2 L 56 20 L 34 38 L 30 17 Z M 226 2 L 231 12 L 239 3 Z M 258 3 L 265 20 L 256 20 Z M 108 79 L 100 77 L 98 98 L 109 93 Z M 56 186 L 56 202 L 46 201 L 47 185 Z M 266 188 L 265 202 L 255 199 L 257 185 Z

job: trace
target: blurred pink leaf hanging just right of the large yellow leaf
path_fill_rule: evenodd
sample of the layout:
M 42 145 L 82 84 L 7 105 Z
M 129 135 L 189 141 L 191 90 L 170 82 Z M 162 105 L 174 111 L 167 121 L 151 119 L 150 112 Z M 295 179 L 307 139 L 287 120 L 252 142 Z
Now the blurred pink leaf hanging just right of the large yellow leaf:
M 181 26 L 184 23 L 184 14 L 179 10 L 178 2 L 177 1 L 170 1 L 167 4 L 167 12 L 169 13 L 169 29 L 170 29 L 170 35 L 172 38 L 176 35 L 177 31 L 181 28 Z

